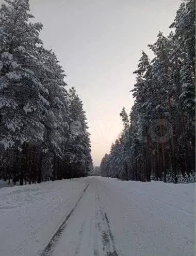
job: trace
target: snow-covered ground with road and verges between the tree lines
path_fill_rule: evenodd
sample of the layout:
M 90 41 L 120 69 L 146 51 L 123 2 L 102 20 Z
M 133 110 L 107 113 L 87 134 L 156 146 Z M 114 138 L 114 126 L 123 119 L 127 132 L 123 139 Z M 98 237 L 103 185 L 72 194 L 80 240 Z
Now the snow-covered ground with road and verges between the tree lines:
M 0 190 L 0 255 L 194 255 L 194 184 L 102 177 Z

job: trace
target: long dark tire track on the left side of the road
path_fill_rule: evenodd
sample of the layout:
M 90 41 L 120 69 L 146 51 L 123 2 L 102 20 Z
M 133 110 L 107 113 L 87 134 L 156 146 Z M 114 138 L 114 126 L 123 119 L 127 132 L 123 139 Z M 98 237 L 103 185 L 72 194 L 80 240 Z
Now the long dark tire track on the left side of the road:
M 81 193 L 81 195 L 79 196 L 75 206 L 73 207 L 73 209 L 70 211 L 70 213 L 67 215 L 67 217 L 64 219 L 64 221 L 61 223 L 61 225 L 59 226 L 58 230 L 55 232 L 55 234 L 53 235 L 53 237 L 51 238 L 51 240 L 49 241 L 49 243 L 47 244 L 47 246 L 42 250 L 42 252 L 40 253 L 40 256 L 51 256 L 53 253 L 53 250 L 56 246 L 57 241 L 59 240 L 62 232 L 64 231 L 64 229 L 67 226 L 67 221 L 69 220 L 69 218 L 72 216 L 75 208 L 77 207 L 79 201 L 81 200 L 81 197 L 83 197 L 85 191 L 87 190 L 89 186 L 89 183 L 87 184 L 87 186 L 85 187 L 85 189 L 83 190 L 83 192 Z

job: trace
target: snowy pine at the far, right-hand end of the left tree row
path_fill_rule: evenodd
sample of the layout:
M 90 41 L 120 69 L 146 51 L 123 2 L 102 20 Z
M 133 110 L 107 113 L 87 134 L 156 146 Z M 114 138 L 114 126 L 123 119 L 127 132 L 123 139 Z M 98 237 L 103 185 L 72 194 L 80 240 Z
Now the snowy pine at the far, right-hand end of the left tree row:
M 69 177 L 83 177 L 88 175 L 92 169 L 90 134 L 88 133 L 83 103 L 74 88 L 69 90 L 68 109 L 72 119 L 72 135 L 65 148 L 66 161 L 69 165 Z

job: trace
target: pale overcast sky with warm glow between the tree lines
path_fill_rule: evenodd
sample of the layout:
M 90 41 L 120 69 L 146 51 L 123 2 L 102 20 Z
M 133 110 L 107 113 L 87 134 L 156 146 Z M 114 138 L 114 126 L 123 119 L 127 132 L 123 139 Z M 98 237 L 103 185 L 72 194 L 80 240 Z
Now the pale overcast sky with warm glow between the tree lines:
M 3 3 L 0 0 L 0 3 Z M 122 130 L 119 113 L 129 111 L 133 75 L 159 31 L 169 33 L 180 0 L 29 0 L 41 39 L 53 49 L 84 103 L 92 158 L 99 165 Z

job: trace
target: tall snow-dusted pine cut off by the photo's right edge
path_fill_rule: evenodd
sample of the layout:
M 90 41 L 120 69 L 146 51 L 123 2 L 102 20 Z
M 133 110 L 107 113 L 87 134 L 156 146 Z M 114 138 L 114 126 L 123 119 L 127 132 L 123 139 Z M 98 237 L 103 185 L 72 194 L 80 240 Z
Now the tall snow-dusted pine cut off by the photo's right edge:
M 195 169 L 195 102 L 194 102 L 194 79 L 195 79 L 195 1 L 183 0 L 176 12 L 175 20 L 171 24 L 175 29 L 175 63 L 178 63 L 176 72 L 177 84 L 180 90 L 178 106 L 182 123 L 181 133 L 183 137 L 183 151 L 185 152 L 185 166 L 183 169 L 189 172 Z M 174 56 L 173 56 L 174 59 Z M 189 135 L 188 135 L 189 134 Z M 188 139 L 189 137 L 189 139 Z

